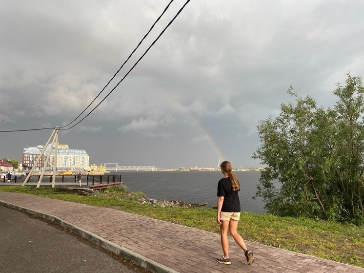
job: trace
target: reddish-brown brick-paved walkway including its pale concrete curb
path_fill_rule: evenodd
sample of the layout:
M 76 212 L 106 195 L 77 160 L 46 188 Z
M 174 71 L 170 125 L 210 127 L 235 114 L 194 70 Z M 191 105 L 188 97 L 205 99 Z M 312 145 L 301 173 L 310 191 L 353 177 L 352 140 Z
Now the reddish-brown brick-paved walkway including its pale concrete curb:
M 231 265 L 221 256 L 220 235 L 136 214 L 0 192 L 0 204 L 49 219 L 152 273 L 363 273 L 364 269 L 245 241 L 254 252 L 248 266 L 229 237 Z M 57 247 L 57 244 L 55 244 Z

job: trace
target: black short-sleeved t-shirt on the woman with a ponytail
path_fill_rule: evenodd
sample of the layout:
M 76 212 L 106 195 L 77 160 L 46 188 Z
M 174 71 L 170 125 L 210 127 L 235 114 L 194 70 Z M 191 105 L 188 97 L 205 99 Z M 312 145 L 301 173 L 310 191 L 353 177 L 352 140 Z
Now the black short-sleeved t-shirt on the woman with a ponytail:
M 240 212 L 239 190 L 233 190 L 230 177 L 220 179 L 218 183 L 218 196 L 224 197 L 221 211 Z

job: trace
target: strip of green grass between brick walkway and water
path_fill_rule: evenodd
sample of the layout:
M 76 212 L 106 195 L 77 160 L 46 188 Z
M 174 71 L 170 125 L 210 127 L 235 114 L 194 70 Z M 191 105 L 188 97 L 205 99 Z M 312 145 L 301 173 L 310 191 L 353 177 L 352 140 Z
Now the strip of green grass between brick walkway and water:
M 204 231 L 219 233 L 216 210 L 204 208 L 153 207 L 136 200 L 142 192 L 105 191 L 81 195 L 61 188 L 1 186 L 0 191 L 123 210 Z M 364 268 L 364 227 L 311 219 L 242 212 L 238 232 L 245 240 L 308 254 Z

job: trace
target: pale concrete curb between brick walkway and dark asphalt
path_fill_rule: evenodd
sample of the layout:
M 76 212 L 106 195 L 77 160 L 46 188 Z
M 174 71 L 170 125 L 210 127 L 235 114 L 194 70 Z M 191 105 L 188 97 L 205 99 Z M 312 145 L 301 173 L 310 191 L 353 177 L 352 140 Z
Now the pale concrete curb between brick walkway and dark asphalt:
M 4 205 L 9 208 L 13 208 L 16 210 L 25 211 L 27 213 L 37 215 L 41 218 L 47 219 L 49 221 L 52 221 L 59 226 L 66 228 L 69 231 L 73 231 L 76 234 L 80 235 L 81 237 L 85 238 L 86 240 L 94 243 L 97 246 L 100 246 L 101 248 L 110 251 L 118 256 L 121 256 L 122 258 L 126 260 L 130 260 L 133 264 L 150 271 L 151 273 L 179 273 L 178 271 L 175 271 L 169 267 L 166 267 L 160 263 L 157 263 L 156 261 L 153 261 L 149 258 L 146 258 L 136 252 L 133 252 L 129 249 L 126 249 L 124 247 L 119 246 L 118 244 L 115 244 L 109 240 L 106 240 L 102 238 L 101 236 L 94 234 L 90 231 L 87 231 L 85 229 L 82 229 L 68 221 L 65 221 L 61 219 L 60 217 L 47 214 L 44 212 L 40 212 L 37 210 L 30 210 L 24 207 L 20 207 L 11 203 L 0 201 L 1 205 Z

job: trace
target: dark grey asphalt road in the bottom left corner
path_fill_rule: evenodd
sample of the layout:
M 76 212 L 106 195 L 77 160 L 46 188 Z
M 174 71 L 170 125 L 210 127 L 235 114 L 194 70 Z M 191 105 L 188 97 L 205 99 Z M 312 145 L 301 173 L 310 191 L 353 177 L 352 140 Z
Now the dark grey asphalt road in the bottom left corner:
M 72 231 L 0 205 L 1 273 L 147 273 Z

